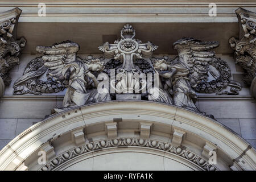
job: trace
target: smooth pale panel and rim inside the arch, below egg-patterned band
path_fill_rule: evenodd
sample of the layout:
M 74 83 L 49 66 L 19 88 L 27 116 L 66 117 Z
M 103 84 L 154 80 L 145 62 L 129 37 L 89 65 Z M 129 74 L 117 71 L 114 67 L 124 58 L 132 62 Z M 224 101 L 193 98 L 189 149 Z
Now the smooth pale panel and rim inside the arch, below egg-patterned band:
M 122 154 L 124 154 L 123 158 L 117 157 L 118 155 L 122 156 Z M 122 160 L 125 158 L 129 158 L 130 157 L 129 154 L 131 154 L 131 158 L 133 158 L 134 155 L 136 155 L 136 154 L 138 156 L 141 156 L 141 155 L 151 156 L 151 158 L 147 158 L 147 159 L 138 158 L 137 162 L 135 162 L 134 167 L 133 167 L 133 166 L 130 166 L 130 162 Z M 112 157 L 109 158 L 109 156 L 112 156 Z M 161 161 L 163 160 L 163 165 L 166 164 L 164 162 L 165 160 L 167 160 L 167 161 L 171 160 L 171 161 L 181 164 L 181 166 L 185 167 L 185 169 L 190 168 L 194 171 L 203 170 L 203 168 L 201 168 L 199 165 L 197 165 L 197 164 L 191 162 L 190 160 L 183 158 L 179 155 L 173 154 L 171 152 L 166 152 L 164 150 L 159 150 L 156 148 L 141 147 L 141 146 L 107 147 L 107 148 L 99 149 L 97 152 L 93 152 L 93 151 L 86 152 L 85 154 L 82 154 L 82 155 L 76 156 L 75 158 L 72 158 L 72 160 L 68 160 L 67 162 L 62 163 L 61 165 L 56 167 L 54 170 L 61 171 L 61 170 L 75 169 L 76 168 L 75 166 L 77 166 L 77 165 L 80 166 L 81 163 L 83 163 L 82 165 L 84 165 L 84 164 L 86 165 L 86 163 L 89 162 L 90 160 L 93 159 L 94 161 L 96 161 L 99 158 L 106 159 L 106 160 L 113 159 L 113 160 L 111 160 L 111 162 L 109 164 L 106 164 L 107 167 L 105 167 L 105 168 L 108 168 L 108 169 L 110 169 L 109 167 L 113 165 L 114 160 L 121 160 L 123 165 L 122 166 L 118 165 L 118 167 L 113 166 L 114 171 L 119 170 L 121 168 L 122 168 L 122 170 L 126 170 L 126 169 L 146 170 L 146 168 L 148 166 L 150 166 L 150 164 L 148 164 L 148 162 L 149 162 L 148 160 L 151 160 L 151 159 L 152 159 L 152 161 L 149 163 L 151 163 L 151 165 L 154 165 L 154 168 L 149 168 L 150 170 L 151 169 L 168 170 L 169 167 L 167 165 L 161 166 L 160 168 L 156 167 L 156 166 L 159 166 L 159 163 L 161 163 L 161 161 L 156 162 L 154 159 L 155 158 L 159 159 L 159 157 L 160 157 Z M 133 159 L 130 159 L 130 160 L 133 160 Z M 141 166 L 139 168 L 138 168 L 138 163 L 141 163 L 141 164 L 139 164 Z M 158 163 L 158 164 L 156 164 L 156 163 Z M 123 168 L 125 166 L 126 166 L 126 168 Z M 87 169 L 102 170 L 102 167 L 100 167 L 100 168 L 98 168 L 98 167 L 99 167 L 98 164 L 93 164 L 93 166 L 88 166 Z M 170 167 L 172 170 L 175 170 L 175 168 L 176 168 L 176 167 L 174 168 L 174 166 L 170 166 Z M 78 170 L 81 170 L 81 169 L 82 168 L 79 168 Z M 169 170 L 170 170 L 170 168 L 169 168 Z

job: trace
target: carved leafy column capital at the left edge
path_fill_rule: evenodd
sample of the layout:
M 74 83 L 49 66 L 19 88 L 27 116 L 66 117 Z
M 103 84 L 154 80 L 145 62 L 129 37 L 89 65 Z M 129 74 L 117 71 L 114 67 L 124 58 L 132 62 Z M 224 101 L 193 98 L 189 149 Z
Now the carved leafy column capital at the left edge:
M 19 55 L 26 45 L 23 37 L 16 39 L 16 26 L 19 15 L 22 12 L 18 7 L 13 10 L 0 13 L 0 97 L 5 86 L 10 85 L 10 70 L 19 64 Z

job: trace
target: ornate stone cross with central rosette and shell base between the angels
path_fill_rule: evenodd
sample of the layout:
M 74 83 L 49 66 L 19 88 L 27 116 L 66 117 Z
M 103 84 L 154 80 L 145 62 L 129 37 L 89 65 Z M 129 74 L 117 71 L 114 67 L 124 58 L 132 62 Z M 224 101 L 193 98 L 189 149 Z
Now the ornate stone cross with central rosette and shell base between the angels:
M 117 69 L 117 79 L 110 82 L 110 86 L 114 88 L 115 92 L 122 93 L 118 95 L 118 100 L 132 98 L 129 96 L 136 97 L 134 93 L 145 88 L 146 85 L 141 85 L 138 79 L 142 70 L 134 63 L 142 57 L 150 57 L 152 52 L 158 48 L 151 42 L 142 43 L 141 40 L 134 37 L 134 28 L 130 24 L 126 24 L 121 30 L 121 40 L 115 40 L 114 44 L 106 42 L 98 47 L 106 58 L 114 58 L 114 60 L 119 60 L 122 63 L 122 67 Z M 141 97 L 136 98 L 140 99 Z

